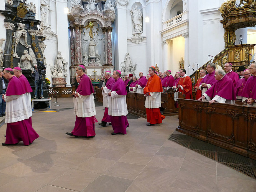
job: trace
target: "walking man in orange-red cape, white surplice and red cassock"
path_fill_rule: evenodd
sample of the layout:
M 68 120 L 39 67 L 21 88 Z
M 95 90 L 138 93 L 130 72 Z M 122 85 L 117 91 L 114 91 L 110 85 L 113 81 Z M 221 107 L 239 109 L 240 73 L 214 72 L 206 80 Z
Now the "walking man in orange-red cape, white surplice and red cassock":
M 159 107 L 161 107 L 161 92 L 163 91 L 160 78 L 155 74 L 155 67 L 149 68 L 151 75 L 147 85 L 144 88 L 146 97 L 145 108 L 147 112 L 147 126 L 162 123 L 165 116 L 161 115 Z

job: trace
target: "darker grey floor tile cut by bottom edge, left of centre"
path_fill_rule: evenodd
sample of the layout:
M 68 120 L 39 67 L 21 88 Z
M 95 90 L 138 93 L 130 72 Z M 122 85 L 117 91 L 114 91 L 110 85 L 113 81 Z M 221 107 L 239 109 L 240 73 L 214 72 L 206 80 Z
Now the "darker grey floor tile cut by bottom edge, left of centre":
M 89 184 L 83 192 L 125 192 L 132 181 L 119 177 L 101 175 Z

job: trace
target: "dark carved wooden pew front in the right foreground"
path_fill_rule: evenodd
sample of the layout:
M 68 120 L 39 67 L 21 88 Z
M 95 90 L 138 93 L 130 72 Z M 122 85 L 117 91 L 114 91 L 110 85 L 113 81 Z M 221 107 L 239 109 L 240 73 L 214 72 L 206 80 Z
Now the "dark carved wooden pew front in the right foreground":
M 179 99 L 179 132 L 256 160 L 256 107 Z

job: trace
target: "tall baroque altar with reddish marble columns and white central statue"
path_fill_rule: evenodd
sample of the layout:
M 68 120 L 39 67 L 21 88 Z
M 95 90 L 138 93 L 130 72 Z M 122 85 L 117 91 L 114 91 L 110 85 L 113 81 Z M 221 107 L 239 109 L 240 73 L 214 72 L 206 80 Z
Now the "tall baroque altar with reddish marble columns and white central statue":
M 109 0 L 104 9 L 98 0 L 73 1 L 71 4 L 68 14 L 71 85 L 75 82 L 78 65 L 84 65 L 86 74 L 92 79 L 100 79 L 107 70 L 113 71 L 111 34 L 115 17 L 114 5 Z

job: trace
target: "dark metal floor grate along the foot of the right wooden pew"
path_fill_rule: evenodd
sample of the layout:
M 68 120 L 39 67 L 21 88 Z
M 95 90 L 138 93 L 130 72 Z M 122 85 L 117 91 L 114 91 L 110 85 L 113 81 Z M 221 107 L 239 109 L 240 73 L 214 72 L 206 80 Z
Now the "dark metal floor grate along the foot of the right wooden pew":
M 256 179 L 256 160 L 203 142 L 194 137 L 171 134 L 169 140 Z

